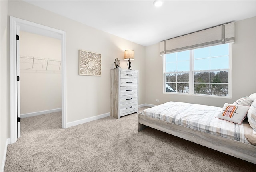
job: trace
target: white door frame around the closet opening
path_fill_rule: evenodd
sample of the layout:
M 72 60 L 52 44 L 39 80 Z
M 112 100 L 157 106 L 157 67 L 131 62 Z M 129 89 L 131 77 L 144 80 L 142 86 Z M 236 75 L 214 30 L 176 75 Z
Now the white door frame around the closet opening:
M 61 95 L 62 95 L 62 128 L 67 128 L 66 118 L 66 32 L 41 24 L 10 16 L 10 143 L 18 140 L 17 126 L 17 68 L 16 68 L 16 30 L 17 25 L 31 26 L 34 29 L 58 34 L 61 36 Z M 22 78 L 21 78 L 22 79 Z

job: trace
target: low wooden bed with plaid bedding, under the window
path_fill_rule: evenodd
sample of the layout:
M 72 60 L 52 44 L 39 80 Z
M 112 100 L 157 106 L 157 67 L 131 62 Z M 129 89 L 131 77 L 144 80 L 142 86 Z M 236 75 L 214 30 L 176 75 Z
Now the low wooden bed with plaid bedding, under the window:
M 247 102 L 244 101 L 245 98 Z M 249 99 L 250 103 L 248 103 Z M 255 99 L 256 93 L 241 98 L 233 104 L 225 104 L 223 108 L 166 102 L 138 113 L 138 131 L 146 127 L 155 128 L 256 164 Z M 240 122 L 230 122 L 226 119 L 228 115 L 223 115 L 231 112 L 229 108 L 234 105 L 239 109 L 234 110 L 234 116 L 242 112 L 240 108 L 245 108 L 244 116 L 239 119 Z

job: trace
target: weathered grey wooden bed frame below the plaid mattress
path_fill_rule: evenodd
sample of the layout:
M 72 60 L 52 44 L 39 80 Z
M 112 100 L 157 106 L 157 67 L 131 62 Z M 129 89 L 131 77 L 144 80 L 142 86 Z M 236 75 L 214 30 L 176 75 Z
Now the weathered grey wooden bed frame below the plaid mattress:
M 172 134 L 191 142 L 218 150 L 225 154 L 256 164 L 256 146 L 242 143 L 222 136 L 201 132 L 185 126 L 158 120 L 138 114 L 138 132 L 146 127 Z

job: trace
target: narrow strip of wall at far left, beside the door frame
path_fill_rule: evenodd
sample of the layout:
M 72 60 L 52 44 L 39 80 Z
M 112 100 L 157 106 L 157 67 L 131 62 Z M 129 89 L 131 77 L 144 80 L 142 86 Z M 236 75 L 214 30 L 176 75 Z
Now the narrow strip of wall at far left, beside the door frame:
M 7 57 L 7 0 L 0 0 L 0 171 L 4 171 L 8 144 L 8 57 Z M 10 82 L 9 82 L 10 83 Z M 9 106 L 10 107 L 10 106 Z

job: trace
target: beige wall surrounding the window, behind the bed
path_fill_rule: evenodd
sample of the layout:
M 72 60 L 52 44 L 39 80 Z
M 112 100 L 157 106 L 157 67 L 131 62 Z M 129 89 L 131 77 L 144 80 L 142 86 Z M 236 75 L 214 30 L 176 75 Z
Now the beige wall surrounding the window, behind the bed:
M 168 101 L 188 102 L 222 107 L 238 98 L 256 92 L 256 17 L 235 23 L 235 43 L 232 44 L 232 98 L 163 94 L 163 62 L 159 44 L 146 47 L 146 103 Z M 154 70 L 152 70 L 154 69 Z M 156 102 L 159 99 L 159 102 Z

